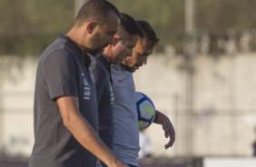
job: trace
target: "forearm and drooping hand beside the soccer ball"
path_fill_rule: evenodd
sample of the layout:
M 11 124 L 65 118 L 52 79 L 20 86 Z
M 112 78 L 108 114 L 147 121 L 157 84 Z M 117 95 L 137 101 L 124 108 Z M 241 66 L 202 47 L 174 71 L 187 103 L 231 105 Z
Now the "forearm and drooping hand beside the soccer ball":
M 156 110 L 153 123 L 162 124 L 165 137 L 170 138 L 169 142 L 164 145 L 165 149 L 172 147 L 173 143 L 175 142 L 175 131 L 169 118 L 165 114 Z

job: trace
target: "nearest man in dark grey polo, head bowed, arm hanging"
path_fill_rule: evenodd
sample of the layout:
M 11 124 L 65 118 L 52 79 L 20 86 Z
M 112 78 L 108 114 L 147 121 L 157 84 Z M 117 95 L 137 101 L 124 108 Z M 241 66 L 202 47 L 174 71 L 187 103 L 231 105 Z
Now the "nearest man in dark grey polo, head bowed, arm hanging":
M 86 56 L 113 43 L 119 22 L 114 5 L 88 1 L 72 29 L 45 49 L 36 74 L 29 167 L 95 167 L 95 156 L 108 166 L 125 166 L 97 136 L 96 92 Z

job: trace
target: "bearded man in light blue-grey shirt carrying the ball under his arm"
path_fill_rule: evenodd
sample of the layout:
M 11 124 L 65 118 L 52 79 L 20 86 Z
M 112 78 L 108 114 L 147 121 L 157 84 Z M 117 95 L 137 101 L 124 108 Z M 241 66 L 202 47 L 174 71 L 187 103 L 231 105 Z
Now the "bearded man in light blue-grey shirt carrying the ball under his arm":
M 112 66 L 115 98 L 113 103 L 113 152 L 122 162 L 130 164 L 131 167 L 138 166 L 140 151 L 133 72 L 146 64 L 147 57 L 153 53 L 153 47 L 158 42 L 153 28 L 147 22 L 138 21 L 138 24 L 144 35 L 133 48 L 133 56 L 126 57 L 122 65 Z M 162 124 L 165 137 L 170 137 L 170 141 L 165 145 L 165 149 L 168 149 L 175 140 L 172 123 L 166 115 L 158 111 L 153 123 Z

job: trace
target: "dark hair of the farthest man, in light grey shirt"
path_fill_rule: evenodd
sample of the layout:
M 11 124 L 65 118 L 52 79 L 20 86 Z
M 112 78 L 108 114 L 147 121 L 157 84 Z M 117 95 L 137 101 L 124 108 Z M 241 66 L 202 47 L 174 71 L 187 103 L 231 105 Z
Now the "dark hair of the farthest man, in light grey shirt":
M 137 23 L 140 25 L 143 31 L 143 38 L 151 41 L 153 45 L 157 44 L 159 38 L 156 36 L 155 32 L 153 31 L 153 27 L 144 20 L 137 20 Z

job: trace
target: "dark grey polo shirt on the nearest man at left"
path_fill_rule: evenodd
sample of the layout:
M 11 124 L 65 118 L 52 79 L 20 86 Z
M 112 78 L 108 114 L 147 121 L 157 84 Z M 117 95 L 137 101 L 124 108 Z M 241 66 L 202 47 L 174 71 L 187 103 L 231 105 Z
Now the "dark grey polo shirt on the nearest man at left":
M 96 157 L 64 126 L 56 103 L 60 96 L 78 97 L 80 113 L 97 133 L 96 93 L 89 63 L 89 57 L 64 35 L 59 35 L 41 56 L 35 82 L 34 148 L 29 167 L 95 166 Z

